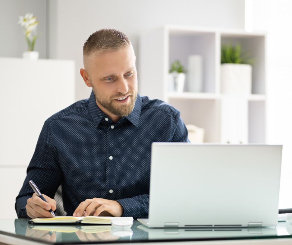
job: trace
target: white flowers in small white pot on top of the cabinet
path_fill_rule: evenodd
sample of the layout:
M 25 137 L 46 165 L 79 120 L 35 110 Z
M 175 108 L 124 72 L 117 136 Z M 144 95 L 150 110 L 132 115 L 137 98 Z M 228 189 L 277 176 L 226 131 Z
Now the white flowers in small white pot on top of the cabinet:
M 39 52 L 34 51 L 34 45 L 38 38 L 36 28 L 39 22 L 33 14 L 27 13 L 25 16 L 19 16 L 18 24 L 24 27 L 24 35 L 28 45 L 28 51 L 23 52 L 22 57 L 31 60 L 38 59 Z

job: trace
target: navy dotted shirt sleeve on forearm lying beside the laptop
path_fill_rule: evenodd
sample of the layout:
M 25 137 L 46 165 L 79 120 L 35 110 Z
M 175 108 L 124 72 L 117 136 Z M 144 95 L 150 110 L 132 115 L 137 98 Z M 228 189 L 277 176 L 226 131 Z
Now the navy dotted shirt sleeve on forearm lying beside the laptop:
M 116 200 L 124 208 L 123 217 L 148 218 L 149 195 L 139 195 L 130 198 Z

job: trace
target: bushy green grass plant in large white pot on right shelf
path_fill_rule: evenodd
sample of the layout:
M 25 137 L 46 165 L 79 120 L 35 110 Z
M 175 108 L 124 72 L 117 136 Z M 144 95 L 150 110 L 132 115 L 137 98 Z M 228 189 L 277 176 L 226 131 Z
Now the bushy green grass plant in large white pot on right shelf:
M 242 54 L 241 45 L 222 45 L 221 92 L 225 94 L 251 94 L 253 58 Z

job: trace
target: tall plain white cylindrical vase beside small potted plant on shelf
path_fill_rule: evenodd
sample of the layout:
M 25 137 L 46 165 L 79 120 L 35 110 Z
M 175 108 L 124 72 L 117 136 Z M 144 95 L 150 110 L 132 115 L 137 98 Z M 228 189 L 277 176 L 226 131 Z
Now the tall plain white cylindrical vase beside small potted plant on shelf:
M 188 57 L 188 91 L 203 92 L 203 58 L 202 55 Z

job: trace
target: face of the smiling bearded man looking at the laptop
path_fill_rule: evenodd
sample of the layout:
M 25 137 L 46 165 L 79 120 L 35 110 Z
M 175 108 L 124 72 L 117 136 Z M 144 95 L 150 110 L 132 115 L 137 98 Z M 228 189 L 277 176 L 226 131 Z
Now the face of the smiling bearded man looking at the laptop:
M 129 115 L 138 93 L 133 47 L 98 52 L 88 61 L 89 81 L 98 106 L 119 117 Z

